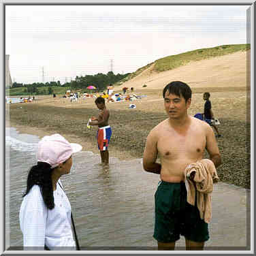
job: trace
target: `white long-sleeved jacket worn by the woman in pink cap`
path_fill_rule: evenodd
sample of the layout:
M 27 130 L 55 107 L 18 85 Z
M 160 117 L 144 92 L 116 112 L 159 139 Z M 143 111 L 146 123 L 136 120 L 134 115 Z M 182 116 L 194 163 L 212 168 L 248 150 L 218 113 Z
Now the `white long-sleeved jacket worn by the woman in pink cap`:
M 71 229 L 71 206 L 59 184 L 54 191 L 54 208 L 44 204 L 38 185 L 34 185 L 20 206 L 23 246 L 29 250 L 76 250 Z M 31 247 L 33 246 L 33 248 Z M 67 248 L 68 247 L 68 248 Z

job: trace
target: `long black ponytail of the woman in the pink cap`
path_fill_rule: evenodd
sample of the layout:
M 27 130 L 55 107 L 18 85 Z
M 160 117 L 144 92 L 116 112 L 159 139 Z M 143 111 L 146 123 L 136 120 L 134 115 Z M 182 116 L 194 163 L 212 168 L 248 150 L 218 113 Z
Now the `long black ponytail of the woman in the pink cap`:
M 37 162 L 37 165 L 32 166 L 27 176 L 27 191 L 25 193 L 27 195 L 33 185 L 38 185 L 41 189 L 44 204 L 46 204 L 48 209 L 54 208 L 52 170 L 50 165 L 44 162 Z

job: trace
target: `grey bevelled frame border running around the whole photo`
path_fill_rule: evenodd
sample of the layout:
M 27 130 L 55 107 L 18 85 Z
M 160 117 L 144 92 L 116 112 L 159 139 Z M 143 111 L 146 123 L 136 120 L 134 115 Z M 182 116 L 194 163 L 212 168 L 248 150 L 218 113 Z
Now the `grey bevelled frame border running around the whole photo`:
M 254 108 L 254 99 L 255 99 L 255 89 L 254 89 L 254 60 L 255 60 L 255 1 L 1 1 L 1 84 L 2 86 L 2 95 L 5 97 L 5 6 L 6 5 L 248 5 L 248 14 L 250 16 L 250 25 L 251 27 L 248 30 L 247 34 L 247 44 L 251 43 L 251 76 L 247 78 L 247 86 L 251 86 L 251 92 L 247 94 L 247 99 L 251 101 L 251 109 L 247 110 L 248 118 L 251 119 L 251 127 L 249 127 L 249 132 L 251 132 L 251 141 L 248 143 L 251 147 L 251 197 L 247 197 L 248 204 L 251 204 L 251 211 L 248 212 L 247 219 L 251 222 L 251 229 L 248 229 L 248 236 L 251 237 L 249 242 L 249 251 L 202 251 L 202 253 L 197 252 L 197 254 L 238 254 L 238 255 L 246 255 L 253 254 L 254 255 L 254 231 L 255 231 L 255 221 L 254 221 L 254 213 L 255 213 L 255 197 L 254 195 L 254 184 L 255 184 L 255 175 L 254 175 L 254 145 L 255 145 L 255 136 L 254 136 L 254 128 L 255 128 L 255 116 L 251 115 L 251 113 L 255 112 Z M 3 66 L 2 66 L 3 65 Z M 20 254 L 65 254 L 65 255 L 74 255 L 74 254 L 86 254 L 86 255 L 103 255 L 103 254 L 150 254 L 150 255 L 159 255 L 166 254 L 167 252 L 156 252 L 156 251 L 7 251 L 6 248 L 6 240 L 5 240 L 5 99 L 2 97 L 1 104 L 1 142 L 2 142 L 2 154 L 1 154 L 1 184 L 2 184 L 2 193 L 1 193 L 1 255 L 20 255 Z M 250 218 L 251 215 L 251 218 Z M 251 221 L 250 221 L 251 219 Z M 182 255 L 182 251 L 175 251 L 176 254 Z M 184 253 L 184 252 L 183 252 Z M 187 254 L 187 253 L 186 253 Z

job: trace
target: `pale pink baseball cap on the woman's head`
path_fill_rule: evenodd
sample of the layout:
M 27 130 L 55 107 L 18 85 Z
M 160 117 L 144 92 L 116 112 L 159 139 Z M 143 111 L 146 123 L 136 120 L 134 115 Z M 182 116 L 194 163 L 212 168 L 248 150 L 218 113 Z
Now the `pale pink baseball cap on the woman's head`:
M 80 144 L 69 143 L 58 133 L 44 136 L 42 140 L 38 142 L 37 162 L 49 163 L 50 166 L 54 168 L 80 150 L 82 150 Z

